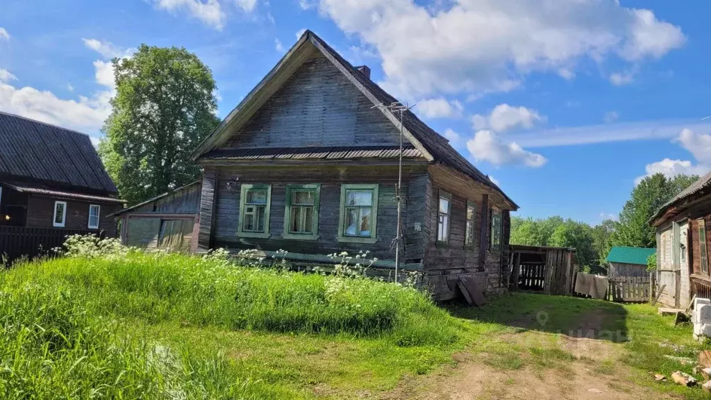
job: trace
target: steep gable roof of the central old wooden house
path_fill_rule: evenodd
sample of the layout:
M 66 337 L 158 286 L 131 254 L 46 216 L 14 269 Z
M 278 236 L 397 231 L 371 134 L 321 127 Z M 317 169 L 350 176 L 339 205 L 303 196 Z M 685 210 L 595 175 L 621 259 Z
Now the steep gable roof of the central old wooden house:
M 287 54 L 279 60 L 279 63 L 267 73 L 266 76 L 255 86 L 250 93 L 240 102 L 230 114 L 225 117 L 220 125 L 198 145 L 193 152 L 193 160 L 203 158 L 203 155 L 217 149 L 220 144 L 223 144 L 230 137 L 230 132 L 234 132 L 235 127 L 245 124 L 252 115 L 264 104 L 264 102 L 289 78 L 296 68 L 309 57 L 313 51 L 321 52 L 331 63 L 348 78 L 348 80 L 360 90 L 373 105 L 390 105 L 397 102 L 389 93 L 380 88 L 378 84 L 370 80 L 367 76 L 355 69 L 351 63 L 348 63 L 340 54 L 328 46 L 319 36 L 311 31 L 306 31 L 299 38 L 299 41 L 289 49 Z M 378 107 L 380 112 L 392 122 L 393 125 L 400 127 L 400 117 L 388 110 L 386 107 Z M 437 132 L 427 126 L 422 120 L 410 110 L 404 112 L 403 115 L 403 135 L 410 142 L 412 147 L 417 149 L 424 159 L 429 162 L 437 162 L 456 169 L 459 172 L 466 174 L 469 178 L 479 181 L 482 184 L 491 187 L 498 191 L 506 201 L 510 203 L 512 208 L 518 209 L 513 200 L 491 181 L 485 174 L 476 169 L 466 158 L 462 157 L 459 152 L 451 147 L 449 140 L 445 139 Z

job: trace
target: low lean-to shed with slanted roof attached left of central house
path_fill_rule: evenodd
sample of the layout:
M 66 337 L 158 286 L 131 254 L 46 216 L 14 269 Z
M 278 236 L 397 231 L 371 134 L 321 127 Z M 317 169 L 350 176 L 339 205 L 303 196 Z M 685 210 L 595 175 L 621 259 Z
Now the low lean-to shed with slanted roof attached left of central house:
M 121 221 L 122 243 L 197 251 L 201 182 L 195 181 L 110 215 Z

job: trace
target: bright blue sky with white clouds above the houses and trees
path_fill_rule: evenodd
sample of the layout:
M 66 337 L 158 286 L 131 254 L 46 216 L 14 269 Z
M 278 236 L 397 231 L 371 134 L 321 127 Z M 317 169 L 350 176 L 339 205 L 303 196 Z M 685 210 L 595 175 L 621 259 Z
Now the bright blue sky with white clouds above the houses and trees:
M 101 137 L 110 58 L 183 46 L 225 116 L 304 28 L 496 179 L 520 215 L 598 223 L 646 174 L 711 166 L 711 3 L 2 0 L 0 110 Z

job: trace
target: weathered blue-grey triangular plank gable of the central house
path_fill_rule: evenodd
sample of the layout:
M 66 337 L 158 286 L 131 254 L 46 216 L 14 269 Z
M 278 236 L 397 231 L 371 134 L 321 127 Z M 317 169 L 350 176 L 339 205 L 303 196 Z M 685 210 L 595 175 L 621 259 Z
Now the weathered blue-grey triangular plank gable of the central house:
M 321 53 L 306 60 L 223 149 L 399 144 L 399 132 Z

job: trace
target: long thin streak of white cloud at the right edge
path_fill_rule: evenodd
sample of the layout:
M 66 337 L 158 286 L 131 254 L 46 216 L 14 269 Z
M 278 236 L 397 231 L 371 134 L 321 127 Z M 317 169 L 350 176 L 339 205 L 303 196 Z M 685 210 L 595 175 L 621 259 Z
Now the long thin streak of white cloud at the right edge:
M 629 140 L 670 140 L 681 130 L 711 132 L 711 120 L 657 120 L 639 122 L 614 122 L 580 127 L 557 127 L 548 130 L 531 130 L 507 134 L 523 147 L 554 147 L 577 144 L 624 142 Z

